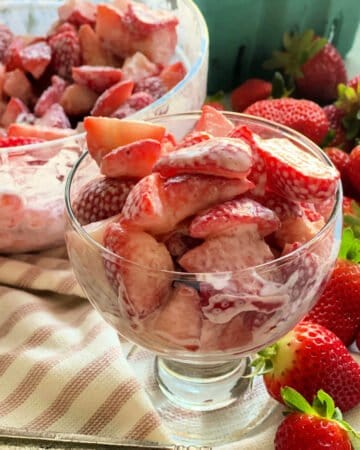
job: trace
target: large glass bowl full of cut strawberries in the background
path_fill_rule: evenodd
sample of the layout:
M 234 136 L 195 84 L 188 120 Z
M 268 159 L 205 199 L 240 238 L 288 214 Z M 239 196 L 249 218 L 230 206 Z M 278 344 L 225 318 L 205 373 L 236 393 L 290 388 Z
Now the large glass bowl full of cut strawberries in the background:
M 173 10 L 162 0 L 152 5 L 158 9 L 127 0 L 0 5 L 1 252 L 63 242 L 64 181 L 83 151 L 86 115 L 201 106 L 206 25 L 188 0 Z M 201 33 L 193 47 L 185 23 Z

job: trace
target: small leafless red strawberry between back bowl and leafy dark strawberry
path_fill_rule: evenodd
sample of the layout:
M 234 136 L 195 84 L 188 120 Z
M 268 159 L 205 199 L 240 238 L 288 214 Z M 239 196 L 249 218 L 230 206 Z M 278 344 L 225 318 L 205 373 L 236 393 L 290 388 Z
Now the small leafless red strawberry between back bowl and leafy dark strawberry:
M 271 89 L 271 83 L 268 81 L 249 78 L 231 92 L 231 108 L 236 112 L 243 112 L 258 100 L 269 98 Z

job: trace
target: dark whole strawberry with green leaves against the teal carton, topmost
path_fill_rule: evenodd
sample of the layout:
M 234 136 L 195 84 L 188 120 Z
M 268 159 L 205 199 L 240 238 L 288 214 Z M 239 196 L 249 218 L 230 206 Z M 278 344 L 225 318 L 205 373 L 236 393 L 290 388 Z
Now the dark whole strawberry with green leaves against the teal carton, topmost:
M 283 69 L 296 85 L 297 94 L 319 103 L 336 98 L 337 85 L 346 83 L 344 61 L 336 48 L 313 30 L 284 34 L 284 50 L 273 53 L 265 63 L 269 69 Z

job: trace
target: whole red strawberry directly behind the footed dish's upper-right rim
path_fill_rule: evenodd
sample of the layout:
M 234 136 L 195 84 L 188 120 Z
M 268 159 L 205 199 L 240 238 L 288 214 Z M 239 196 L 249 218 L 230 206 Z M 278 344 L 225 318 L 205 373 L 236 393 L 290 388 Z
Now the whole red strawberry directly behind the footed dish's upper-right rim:
M 323 109 L 310 100 L 295 98 L 260 100 L 246 108 L 244 113 L 293 128 L 318 145 L 323 142 L 329 130 L 329 122 Z

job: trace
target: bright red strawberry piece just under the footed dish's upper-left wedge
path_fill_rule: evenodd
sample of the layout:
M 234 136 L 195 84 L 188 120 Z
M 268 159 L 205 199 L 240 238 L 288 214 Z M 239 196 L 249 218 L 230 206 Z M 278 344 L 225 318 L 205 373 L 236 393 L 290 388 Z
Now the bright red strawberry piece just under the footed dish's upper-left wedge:
M 101 160 L 100 171 L 108 177 L 142 178 L 151 173 L 161 153 L 155 139 L 140 139 L 118 147 Z

